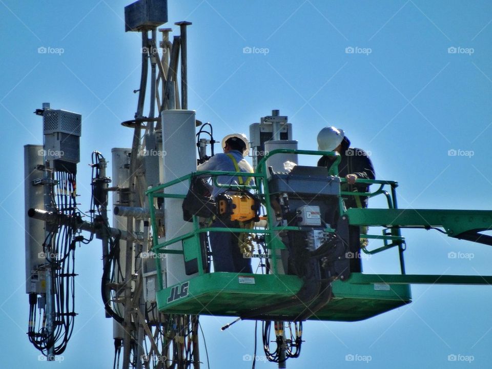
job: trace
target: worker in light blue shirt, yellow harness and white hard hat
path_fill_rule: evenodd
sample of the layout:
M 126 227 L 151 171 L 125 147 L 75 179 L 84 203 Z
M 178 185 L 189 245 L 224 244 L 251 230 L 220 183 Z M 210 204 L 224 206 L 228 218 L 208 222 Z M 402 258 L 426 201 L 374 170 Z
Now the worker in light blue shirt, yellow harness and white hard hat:
M 226 171 L 253 173 L 253 167 L 244 159 L 249 153 L 248 137 L 243 133 L 233 133 L 222 139 L 223 153 L 212 156 L 206 162 L 200 164 L 197 171 Z M 218 176 L 220 185 L 249 185 L 251 177 L 248 176 Z M 214 197 L 223 192 L 224 188 L 214 186 Z M 239 228 L 237 221 L 216 218 L 210 227 Z M 210 246 L 214 260 L 215 272 L 242 272 L 253 273 L 251 258 L 245 258 L 239 251 L 238 234 L 232 232 L 210 232 Z

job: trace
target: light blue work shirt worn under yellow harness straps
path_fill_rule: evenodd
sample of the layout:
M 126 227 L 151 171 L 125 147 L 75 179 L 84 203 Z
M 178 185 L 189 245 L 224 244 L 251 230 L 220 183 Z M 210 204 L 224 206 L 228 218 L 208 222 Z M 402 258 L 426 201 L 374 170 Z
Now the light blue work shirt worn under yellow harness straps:
M 250 165 L 248 161 L 244 159 L 242 153 L 240 153 L 237 150 L 231 150 L 229 151 L 228 154 L 232 154 L 234 156 L 240 172 L 253 173 L 253 167 Z M 234 167 L 234 162 L 231 160 L 228 154 L 224 154 L 224 153 L 215 154 L 209 160 L 200 164 L 196 170 L 198 172 L 203 172 L 203 171 L 236 172 L 236 168 Z M 251 184 L 251 183 L 247 183 L 248 181 L 247 176 L 243 176 L 242 180 L 244 182 L 243 183 L 244 185 Z M 239 185 L 238 177 L 233 177 L 233 176 L 218 176 L 217 182 L 220 183 L 220 185 Z M 214 186 L 212 195 L 215 197 L 217 194 L 223 191 L 226 191 L 226 189 Z

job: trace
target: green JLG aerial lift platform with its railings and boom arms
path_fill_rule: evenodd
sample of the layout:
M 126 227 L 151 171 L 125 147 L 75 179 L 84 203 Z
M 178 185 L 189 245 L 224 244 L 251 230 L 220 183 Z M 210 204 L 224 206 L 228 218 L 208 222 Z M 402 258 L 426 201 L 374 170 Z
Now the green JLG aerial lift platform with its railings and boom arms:
M 195 175 L 237 176 L 235 172 L 199 172 L 191 173 L 176 180 L 167 182 L 147 191 L 151 208 L 153 231 L 153 249 L 156 254 L 183 254 L 185 261 L 196 259 L 197 275 L 189 280 L 175 285 L 165 286 L 162 279 L 160 258 L 157 260 L 158 310 L 166 314 L 193 314 L 193 315 L 220 315 L 235 316 L 243 319 L 262 320 L 330 320 L 330 321 L 357 321 L 376 316 L 378 314 L 399 308 L 412 301 L 410 284 L 490 284 L 490 276 L 438 276 L 438 275 L 407 275 L 405 274 L 403 251 L 405 240 L 401 236 L 401 228 L 443 228 L 444 232 L 459 239 L 480 242 L 492 245 L 492 237 L 480 232 L 492 228 L 492 211 L 473 210 L 402 210 L 397 209 L 395 181 L 385 180 L 358 180 L 362 183 L 378 185 L 379 188 L 371 193 L 358 193 L 358 196 L 374 197 L 385 196 L 388 209 L 348 209 L 343 206 L 342 196 L 354 193 L 340 191 L 339 187 L 331 189 L 328 196 L 332 197 L 332 204 L 338 209 L 341 217 L 351 226 L 378 226 L 383 227 L 382 234 L 362 234 L 361 238 L 380 239 L 382 247 L 375 250 L 362 249 L 368 254 L 379 253 L 391 248 L 398 248 L 400 256 L 401 274 L 397 275 L 367 275 L 350 273 L 347 278 L 343 275 L 321 281 L 323 289 L 310 299 L 301 298 L 301 290 L 308 283 L 294 274 L 281 272 L 281 255 L 286 246 L 278 234 L 280 232 L 302 232 L 301 227 L 285 226 L 276 222 L 271 204 L 272 178 L 267 175 L 265 161 L 268 157 L 278 153 L 296 153 L 306 155 L 337 156 L 334 165 L 328 170 L 328 175 L 338 178 L 338 163 L 340 158 L 333 152 L 304 151 L 304 150 L 274 150 L 259 163 L 254 186 L 233 186 L 236 190 L 254 191 L 261 199 L 264 211 L 267 214 L 267 225 L 255 229 L 223 229 L 200 227 L 198 219 L 193 217 L 194 230 L 188 234 L 158 242 L 158 219 L 155 217 L 155 198 L 183 198 L 184 195 L 164 193 L 163 190 L 183 181 L 190 181 Z M 288 175 L 287 175 L 288 176 Z M 305 179 L 305 178 L 304 178 Z M 283 179 L 282 179 L 283 180 Z M 285 177 L 285 181 L 293 178 Z M 311 183 L 310 180 L 313 182 Z M 308 178 L 308 186 L 316 187 L 316 178 Z M 270 182 L 269 182 L 270 181 Z M 344 179 L 341 179 L 344 182 Z M 215 180 L 215 185 L 219 185 Z M 275 186 L 273 186 L 275 187 Z M 278 185 L 277 185 L 278 187 Z M 386 190 L 389 188 L 389 190 Z M 275 190 L 273 190 L 275 191 Z M 309 191 L 309 190 L 306 190 Z M 176 215 L 179 216 L 179 215 Z M 268 274 L 245 274 L 229 272 L 208 272 L 204 260 L 201 234 L 211 231 L 244 232 L 264 237 L 265 249 L 268 252 L 268 261 L 271 265 Z M 325 225 L 325 233 L 334 233 L 335 230 Z M 171 250 L 167 247 L 180 242 L 181 250 Z M 205 267 L 204 267 L 205 266 Z M 326 290 L 327 292 L 325 292 Z M 320 302 L 320 304 L 316 304 Z M 315 308 L 316 306 L 316 308 Z

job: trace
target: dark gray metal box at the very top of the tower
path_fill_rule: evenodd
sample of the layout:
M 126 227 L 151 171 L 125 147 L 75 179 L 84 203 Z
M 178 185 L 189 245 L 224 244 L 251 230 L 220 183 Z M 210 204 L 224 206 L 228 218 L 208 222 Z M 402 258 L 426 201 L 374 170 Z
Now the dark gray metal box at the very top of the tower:
M 152 29 L 167 22 L 167 0 L 138 0 L 125 7 L 125 32 Z

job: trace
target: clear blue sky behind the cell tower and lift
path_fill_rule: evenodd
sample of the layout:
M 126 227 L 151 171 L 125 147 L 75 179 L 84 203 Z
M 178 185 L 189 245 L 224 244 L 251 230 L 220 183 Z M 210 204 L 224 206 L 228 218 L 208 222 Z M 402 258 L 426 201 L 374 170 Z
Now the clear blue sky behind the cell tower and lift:
M 90 153 L 128 147 L 120 122 L 136 109 L 140 37 L 124 32 L 129 1 L 0 0 L 0 200 L 5 367 L 45 367 L 27 339 L 24 293 L 23 146 L 42 142 L 42 103 L 82 114 L 78 188 L 89 209 Z M 400 208 L 492 208 L 492 6 L 487 1 L 169 0 L 167 27 L 189 20 L 189 108 L 220 138 L 249 132 L 280 109 L 300 149 L 324 126 L 344 129 L 392 179 Z M 51 48 L 38 53 L 38 48 Z M 244 48 L 256 48 L 244 53 Z M 57 51 L 56 51 L 57 50 Z M 63 51 L 63 52 L 62 52 Z M 268 51 L 268 52 L 267 52 Z M 351 52 L 353 51 L 353 52 Z M 453 155 L 456 154 L 456 155 Z M 314 164 L 315 159 L 305 159 Z M 381 206 L 374 200 L 370 206 Z M 437 232 L 405 231 L 407 273 L 490 275 L 492 250 Z M 449 259 L 449 252 L 473 258 Z M 385 254 L 385 255 L 384 255 Z M 74 335 L 59 364 L 110 367 L 112 324 L 100 300 L 101 248 L 76 251 Z M 398 271 L 396 253 L 364 260 L 366 273 Z M 486 367 L 492 359 L 490 286 L 413 286 L 414 302 L 357 323 L 308 322 L 288 367 Z M 211 367 L 251 367 L 254 324 L 226 332 L 203 318 Z M 206 360 L 204 350 L 202 359 Z M 262 358 L 261 348 L 258 355 Z M 345 360 L 346 355 L 371 361 Z M 450 362 L 449 355 L 473 357 Z M 274 367 L 260 360 L 257 367 Z

